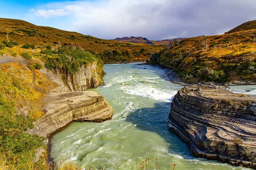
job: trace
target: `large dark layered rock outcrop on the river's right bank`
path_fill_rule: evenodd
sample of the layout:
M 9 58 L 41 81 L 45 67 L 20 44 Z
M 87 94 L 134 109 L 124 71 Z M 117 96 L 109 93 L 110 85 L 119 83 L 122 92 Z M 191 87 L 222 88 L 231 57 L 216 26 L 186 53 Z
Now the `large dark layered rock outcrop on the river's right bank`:
M 175 95 L 169 127 L 197 157 L 256 169 L 256 99 L 198 85 Z

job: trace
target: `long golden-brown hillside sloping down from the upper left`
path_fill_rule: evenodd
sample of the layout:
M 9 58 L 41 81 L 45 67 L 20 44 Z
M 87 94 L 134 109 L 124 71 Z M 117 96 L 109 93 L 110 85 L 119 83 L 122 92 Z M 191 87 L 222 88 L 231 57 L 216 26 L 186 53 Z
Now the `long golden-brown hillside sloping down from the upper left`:
M 37 46 L 56 46 L 59 42 L 64 45 L 75 44 L 84 50 L 100 54 L 105 63 L 145 61 L 151 53 L 163 49 L 163 46 L 158 45 L 103 40 L 76 32 L 35 26 L 23 20 L 0 18 L 0 26 L 0 41 L 7 40 L 8 34 L 9 40 L 19 44 L 33 43 Z

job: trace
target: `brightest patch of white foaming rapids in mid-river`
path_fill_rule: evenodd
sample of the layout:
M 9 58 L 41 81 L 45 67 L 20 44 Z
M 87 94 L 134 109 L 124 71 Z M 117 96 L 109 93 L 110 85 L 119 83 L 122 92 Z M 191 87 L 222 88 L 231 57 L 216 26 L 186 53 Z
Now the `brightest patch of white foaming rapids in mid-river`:
M 126 94 L 142 96 L 148 99 L 171 102 L 172 97 L 177 93 L 177 91 L 163 91 L 151 86 L 136 85 L 136 86 L 123 86 L 120 90 L 124 91 Z

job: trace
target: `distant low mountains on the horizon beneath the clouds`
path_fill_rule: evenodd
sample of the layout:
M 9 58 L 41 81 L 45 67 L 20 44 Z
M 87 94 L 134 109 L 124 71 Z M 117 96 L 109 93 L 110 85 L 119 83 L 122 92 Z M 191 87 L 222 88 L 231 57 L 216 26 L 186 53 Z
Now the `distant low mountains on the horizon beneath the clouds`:
M 149 45 L 168 45 L 170 41 L 172 40 L 160 40 L 160 41 L 152 41 L 148 40 L 147 38 L 143 37 L 122 37 L 122 38 L 116 38 L 114 39 L 119 42 L 132 42 L 132 43 L 143 43 L 143 44 L 149 44 Z M 176 38 L 176 40 L 183 40 L 183 38 Z

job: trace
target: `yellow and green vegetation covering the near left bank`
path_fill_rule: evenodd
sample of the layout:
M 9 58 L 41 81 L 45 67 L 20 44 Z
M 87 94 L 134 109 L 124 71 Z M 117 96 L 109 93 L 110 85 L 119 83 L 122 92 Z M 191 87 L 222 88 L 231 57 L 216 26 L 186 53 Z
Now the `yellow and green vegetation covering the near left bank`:
M 37 102 L 41 94 L 34 90 L 29 71 L 18 64 L 1 65 L 0 69 L 0 153 L 6 164 L 14 164 L 16 169 L 23 169 L 29 157 L 38 147 L 46 148 L 43 139 L 29 135 L 26 130 L 33 128 Z M 26 73 L 26 75 L 25 75 Z M 17 114 L 17 109 L 29 105 L 29 115 Z M 41 116 L 41 115 L 40 115 Z

